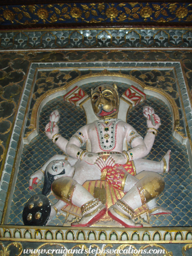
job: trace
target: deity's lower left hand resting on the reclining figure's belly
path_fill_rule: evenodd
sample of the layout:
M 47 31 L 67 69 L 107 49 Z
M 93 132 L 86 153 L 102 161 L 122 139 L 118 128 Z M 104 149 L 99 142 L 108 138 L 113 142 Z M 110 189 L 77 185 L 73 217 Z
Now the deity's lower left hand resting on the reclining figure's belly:
M 88 163 L 89 165 L 95 165 L 99 170 L 102 170 L 104 167 L 106 167 L 105 162 L 101 156 L 97 153 L 92 153 L 92 152 L 85 152 L 82 155 L 81 158 L 83 161 Z

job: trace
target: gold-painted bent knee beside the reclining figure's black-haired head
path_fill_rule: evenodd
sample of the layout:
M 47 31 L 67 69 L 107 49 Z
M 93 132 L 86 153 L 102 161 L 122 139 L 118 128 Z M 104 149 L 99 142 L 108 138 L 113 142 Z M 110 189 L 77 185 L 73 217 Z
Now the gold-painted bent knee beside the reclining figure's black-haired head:
M 73 178 L 61 177 L 53 181 L 52 191 L 56 198 L 71 204 L 76 185 L 77 181 L 75 181 Z

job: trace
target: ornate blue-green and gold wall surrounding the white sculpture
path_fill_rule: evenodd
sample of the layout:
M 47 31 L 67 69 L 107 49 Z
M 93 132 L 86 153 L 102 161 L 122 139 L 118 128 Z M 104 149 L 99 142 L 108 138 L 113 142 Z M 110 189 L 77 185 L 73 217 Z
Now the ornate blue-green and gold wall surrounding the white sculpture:
M 62 22 L 184 23 L 191 21 L 191 4 L 2 6 L 0 21 L 4 27 Z M 10 250 L 13 255 L 27 255 L 24 249 L 62 246 L 102 248 L 104 244 L 112 249 L 132 245 L 134 249 L 165 249 L 165 255 L 190 255 L 191 42 L 190 28 L 1 30 L 0 254 Z M 83 108 L 65 102 L 63 91 L 78 86 L 88 99 L 90 88 L 103 81 L 115 81 L 120 95 L 132 83 L 139 84 L 146 100 L 129 111 L 127 122 L 142 136 L 146 133 L 143 106 L 152 106 L 161 117 L 161 129 L 147 159 L 160 161 L 168 149 L 172 150 L 170 172 L 163 174 L 166 187 L 157 201 L 172 214 L 151 216 L 149 226 L 137 230 L 117 223 L 113 227 L 97 223 L 79 231 L 70 226 L 76 217 L 65 211 L 59 212 L 48 227 L 23 226 L 25 203 L 31 196 L 41 194 L 43 187 L 42 182 L 29 191 L 29 176 L 52 155 L 63 153 L 44 133 L 50 112 L 59 110 L 62 135 L 69 139 L 86 123 L 86 114 Z M 49 200 L 51 204 L 56 202 L 53 194 Z

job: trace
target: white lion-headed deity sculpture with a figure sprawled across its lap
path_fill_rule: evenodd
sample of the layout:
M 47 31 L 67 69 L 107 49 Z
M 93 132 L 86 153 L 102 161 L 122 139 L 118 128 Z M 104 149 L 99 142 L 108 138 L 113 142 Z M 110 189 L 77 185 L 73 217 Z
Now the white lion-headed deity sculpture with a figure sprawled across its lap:
M 51 206 L 49 220 L 66 204 L 81 208 L 82 217 L 71 224 L 73 227 L 89 227 L 106 211 L 127 228 L 143 227 L 135 220 L 142 214 L 142 209 L 147 209 L 151 215 L 169 214 L 170 211 L 157 206 L 156 197 L 165 186 L 158 173 L 169 171 L 170 150 L 161 162 L 143 158 L 153 146 L 161 125 L 159 117 L 152 108 L 144 108 L 147 134 L 143 139 L 130 124 L 117 118 L 119 95 L 115 84 L 101 84 L 92 89 L 91 104 L 99 119 L 80 127 L 69 141 L 58 133 L 54 120 L 45 127 L 48 138 L 70 155 L 69 158 L 65 155 L 52 157 L 41 170 L 30 176 L 29 188 L 32 189 L 33 183 L 42 180 L 45 172 L 43 194 L 47 195 L 52 189 L 58 199 Z M 56 117 L 56 111 L 53 114 Z M 89 151 L 81 149 L 85 142 L 91 145 Z M 131 146 L 130 150 L 124 150 L 125 143 Z M 107 209 L 83 187 L 88 180 L 105 180 L 125 195 Z

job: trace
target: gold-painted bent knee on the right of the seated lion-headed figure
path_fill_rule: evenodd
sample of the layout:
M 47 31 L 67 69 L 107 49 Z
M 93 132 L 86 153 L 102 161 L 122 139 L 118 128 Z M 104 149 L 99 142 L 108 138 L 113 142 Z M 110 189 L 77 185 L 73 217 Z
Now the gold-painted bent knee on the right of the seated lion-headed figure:
M 149 175 L 143 177 L 136 183 L 141 201 L 143 204 L 157 197 L 162 193 L 165 187 L 164 179 L 155 172 L 150 172 Z

